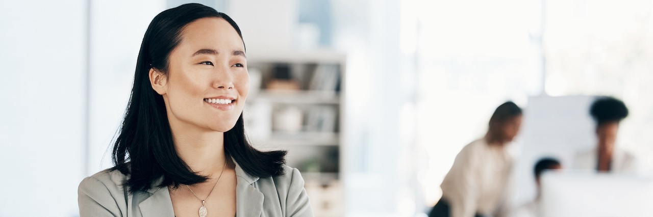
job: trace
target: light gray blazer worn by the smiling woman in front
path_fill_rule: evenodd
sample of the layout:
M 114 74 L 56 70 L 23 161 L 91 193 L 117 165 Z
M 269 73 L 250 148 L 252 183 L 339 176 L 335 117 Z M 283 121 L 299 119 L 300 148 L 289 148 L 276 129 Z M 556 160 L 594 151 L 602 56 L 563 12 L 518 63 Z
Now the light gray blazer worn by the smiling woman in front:
M 236 216 L 313 216 L 302 175 L 287 166 L 285 171 L 259 179 L 236 164 Z M 86 177 L 78 188 L 80 216 L 174 216 L 168 188 L 129 194 L 121 185 L 126 178 L 117 170 Z

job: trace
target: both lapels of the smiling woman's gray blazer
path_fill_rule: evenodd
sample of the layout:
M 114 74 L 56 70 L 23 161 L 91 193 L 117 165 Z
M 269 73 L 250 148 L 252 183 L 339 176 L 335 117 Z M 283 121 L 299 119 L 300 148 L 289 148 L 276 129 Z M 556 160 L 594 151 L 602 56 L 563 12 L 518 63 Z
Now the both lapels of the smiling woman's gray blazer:
M 261 216 L 264 197 L 255 187 L 259 177 L 249 175 L 236 160 L 233 162 L 236 164 L 236 216 Z M 153 188 L 148 190 L 150 197 L 138 204 L 142 216 L 174 216 L 168 188 L 157 187 L 161 182 L 163 177 L 153 182 Z

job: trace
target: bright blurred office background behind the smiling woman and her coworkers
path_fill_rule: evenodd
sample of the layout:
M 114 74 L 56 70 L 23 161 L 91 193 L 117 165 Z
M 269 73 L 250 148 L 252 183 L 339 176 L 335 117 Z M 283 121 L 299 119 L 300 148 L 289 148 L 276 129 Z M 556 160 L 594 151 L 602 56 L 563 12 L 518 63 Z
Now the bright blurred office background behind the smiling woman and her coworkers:
M 78 183 L 111 166 L 148 24 L 189 2 L 0 0 L 0 216 L 77 215 Z M 269 121 L 251 119 L 249 134 L 289 149 L 319 216 L 423 216 L 458 151 L 506 100 L 527 115 L 513 147 L 515 204 L 534 196 L 537 154 L 565 164 L 594 145 L 590 96 L 626 102 L 618 145 L 653 164 L 651 1 L 194 2 L 240 25 L 261 82 L 246 112 Z M 270 83 L 283 72 L 294 84 Z M 302 72 L 340 76 L 317 87 Z M 567 102 L 577 111 L 567 121 L 586 127 L 578 145 L 529 147 L 547 119 L 529 109 Z M 336 121 L 311 126 L 319 117 Z

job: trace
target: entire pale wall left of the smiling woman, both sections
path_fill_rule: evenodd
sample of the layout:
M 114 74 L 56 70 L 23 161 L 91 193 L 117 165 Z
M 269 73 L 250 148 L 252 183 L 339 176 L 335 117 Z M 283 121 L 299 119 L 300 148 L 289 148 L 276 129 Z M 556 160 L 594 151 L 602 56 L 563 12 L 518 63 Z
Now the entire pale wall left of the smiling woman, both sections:
M 87 4 L 0 1 L 0 216 L 76 216 L 79 182 L 112 166 L 140 42 L 166 3 Z

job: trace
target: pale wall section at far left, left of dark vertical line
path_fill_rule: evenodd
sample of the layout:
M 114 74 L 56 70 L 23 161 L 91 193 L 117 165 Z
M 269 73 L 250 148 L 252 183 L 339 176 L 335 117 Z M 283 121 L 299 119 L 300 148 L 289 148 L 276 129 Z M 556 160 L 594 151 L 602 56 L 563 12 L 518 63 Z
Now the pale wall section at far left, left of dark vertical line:
M 86 1 L 0 1 L 0 216 L 75 216 Z

